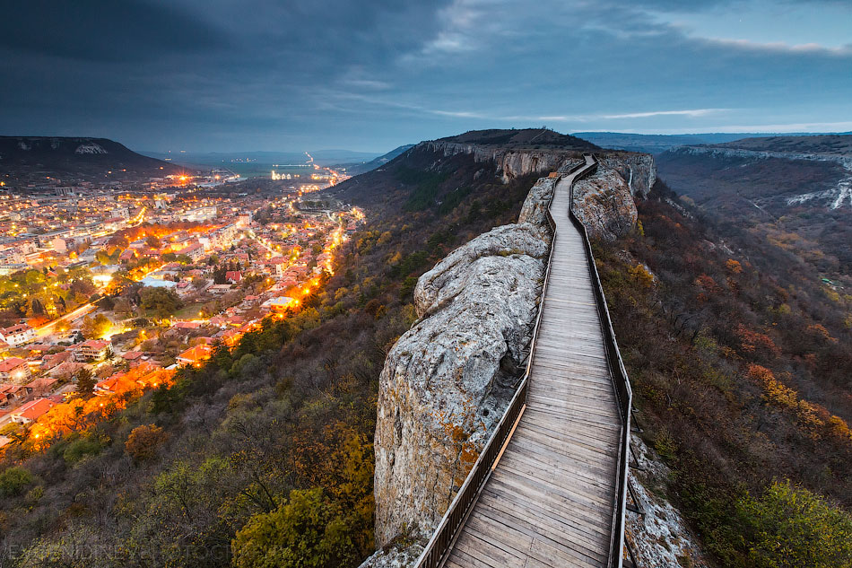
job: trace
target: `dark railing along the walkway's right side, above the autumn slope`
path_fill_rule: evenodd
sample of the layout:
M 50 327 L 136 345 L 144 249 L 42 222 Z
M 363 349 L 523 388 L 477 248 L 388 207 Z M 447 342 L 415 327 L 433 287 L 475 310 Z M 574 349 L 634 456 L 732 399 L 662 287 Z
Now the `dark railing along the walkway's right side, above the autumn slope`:
M 598 161 L 593 155 L 591 159 L 594 165 L 578 174 L 574 179 L 582 179 L 597 170 Z M 600 275 L 597 274 L 595 255 L 592 253 L 592 243 L 588 239 L 586 225 L 584 225 L 574 213 L 574 184 L 570 188 L 569 217 L 583 238 L 583 249 L 586 251 L 589 275 L 592 278 L 592 289 L 595 293 L 597 310 L 600 315 L 601 329 L 604 333 L 604 348 L 606 350 L 606 362 L 610 368 L 610 376 L 613 378 L 615 396 L 618 399 L 619 414 L 622 418 L 622 433 L 619 440 L 618 465 L 615 486 L 615 508 L 613 513 L 613 532 L 610 541 L 610 557 L 607 565 L 610 568 L 621 568 L 624 550 L 624 518 L 627 510 L 627 469 L 629 466 L 628 451 L 630 451 L 630 408 L 632 405 L 633 391 L 630 389 L 630 378 L 624 368 L 622 353 L 619 351 L 618 342 L 615 340 L 613 321 L 610 319 L 609 308 L 606 306 L 604 287 L 601 285 Z

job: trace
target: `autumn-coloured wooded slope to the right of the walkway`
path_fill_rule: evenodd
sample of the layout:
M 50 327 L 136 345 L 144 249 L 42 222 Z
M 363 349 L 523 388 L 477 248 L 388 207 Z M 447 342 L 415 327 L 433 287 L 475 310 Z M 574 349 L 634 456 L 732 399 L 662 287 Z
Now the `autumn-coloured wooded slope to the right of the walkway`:
M 596 258 L 643 437 L 724 566 L 852 565 L 852 296 L 657 182 Z

